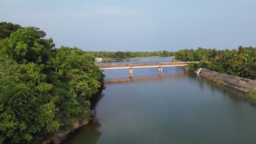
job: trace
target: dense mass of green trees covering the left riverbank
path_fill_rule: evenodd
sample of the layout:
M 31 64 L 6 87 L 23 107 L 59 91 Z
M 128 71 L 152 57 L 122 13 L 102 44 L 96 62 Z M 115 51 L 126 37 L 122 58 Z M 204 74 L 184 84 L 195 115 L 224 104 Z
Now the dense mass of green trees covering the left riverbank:
M 88 122 L 90 98 L 104 77 L 95 57 L 55 49 L 36 27 L 2 22 L 0 32 L 0 143 L 57 141 Z

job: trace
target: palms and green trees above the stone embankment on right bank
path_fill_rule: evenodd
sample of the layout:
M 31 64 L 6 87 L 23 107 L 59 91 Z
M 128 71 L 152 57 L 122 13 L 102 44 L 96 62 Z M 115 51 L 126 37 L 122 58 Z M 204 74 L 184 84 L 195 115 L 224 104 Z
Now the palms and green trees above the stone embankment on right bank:
M 176 59 L 181 61 L 200 61 L 190 64 L 189 69 L 208 68 L 220 73 L 227 73 L 256 80 L 256 47 L 242 47 L 238 50 L 185 49 L 176 52 Z

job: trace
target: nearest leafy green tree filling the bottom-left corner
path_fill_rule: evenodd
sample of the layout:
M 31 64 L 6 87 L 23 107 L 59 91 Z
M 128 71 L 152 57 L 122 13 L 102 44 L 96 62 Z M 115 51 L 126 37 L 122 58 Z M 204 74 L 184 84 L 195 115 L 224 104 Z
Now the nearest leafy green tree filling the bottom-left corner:
M 49 132 L 59 128 L 49 94 L 52 85 L 45 82 L 46 76 L 36 64 L 17 64 L 10 60 L 9 64 L 2 65 L 0 77 L 2 140 L 31 141 L 33 135 L 44 128 Z

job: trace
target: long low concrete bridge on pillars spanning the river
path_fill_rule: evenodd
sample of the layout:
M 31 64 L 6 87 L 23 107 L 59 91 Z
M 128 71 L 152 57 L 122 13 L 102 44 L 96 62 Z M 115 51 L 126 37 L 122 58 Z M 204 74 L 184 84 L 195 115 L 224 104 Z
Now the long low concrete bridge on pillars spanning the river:
M 189 63 L 198 62 L 165 62 L 165 63 L 130 63 L 130 64 L 105 64 L 98 65 L 101 69 L 129 69 L 129 74 L 132 74 L 133 68 L 158 68 L 162 72 L 162 67 L 186 67 Z

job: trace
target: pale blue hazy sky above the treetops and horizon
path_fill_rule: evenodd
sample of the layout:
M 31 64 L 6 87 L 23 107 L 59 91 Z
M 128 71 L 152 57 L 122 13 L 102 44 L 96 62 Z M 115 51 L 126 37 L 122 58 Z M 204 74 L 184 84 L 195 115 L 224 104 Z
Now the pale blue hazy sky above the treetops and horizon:
M 0 21 L 85 51 L 222 50 L 256 46 L 255 8 L 255 0 L 1 0 Z

